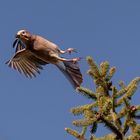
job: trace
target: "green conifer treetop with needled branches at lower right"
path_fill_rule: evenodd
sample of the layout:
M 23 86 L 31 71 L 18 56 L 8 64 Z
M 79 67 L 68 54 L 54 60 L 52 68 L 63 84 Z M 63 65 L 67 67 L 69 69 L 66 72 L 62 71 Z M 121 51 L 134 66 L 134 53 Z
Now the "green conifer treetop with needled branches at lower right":
M 138 88 L 140 77 L 134 78 L 128 85 L 120 81 L 118 88 L 111 80 L 116 67 L 110 68 L 107 61 L 98 66 L 91 57 L 87 57 L 87 63 L 90 67 L 88 74 L 94 81 L 95 90 L 79 87 L 77 91 L 93 102 L 71 109 L 74 115 L 83 116 L 82 119 L 73 121 L 73 125 L 82 128 L 82 132 L 70 128 L 65 130 L 78 140 L 86 140 L 88 128 L 90 140 L 140 140 L 140 125 L 136 122 L 136 119 L 140 119 L 140 105 L 132 105 L 130 102 Z M 113 133 L 96 138 L 99 123 L 105 124 Z M 131 134 L 126 136 L 128 130 Z

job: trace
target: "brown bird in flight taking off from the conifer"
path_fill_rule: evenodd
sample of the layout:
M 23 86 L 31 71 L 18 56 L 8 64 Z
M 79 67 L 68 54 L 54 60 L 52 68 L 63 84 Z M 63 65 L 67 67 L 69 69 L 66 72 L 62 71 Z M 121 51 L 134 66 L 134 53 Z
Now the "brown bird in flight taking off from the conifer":
M 83 78 L 78 64 L 80 58 L 60 57 L 64 53 L 76 52 L 74 48 L 61 50 L 53 42 L 31 34 L 27 30 L 20 30 L 16 33 L 13 47 L 16 47 L 15 54 L 6 64 L 26 77 L 36 77 L 36 73 L 40 74 L 43 65 L 54 64 L 75 89 L 81 85 Z

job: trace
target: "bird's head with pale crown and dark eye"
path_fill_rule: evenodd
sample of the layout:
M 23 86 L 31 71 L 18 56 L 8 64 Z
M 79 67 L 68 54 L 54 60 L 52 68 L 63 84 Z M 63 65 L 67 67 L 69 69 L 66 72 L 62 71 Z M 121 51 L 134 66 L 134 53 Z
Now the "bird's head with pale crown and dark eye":
M 27 30 L 20 30 L 16 33 L 16 39 L 21 39 L 23 42 L 29 41 L 31 38 L 31 33 Z

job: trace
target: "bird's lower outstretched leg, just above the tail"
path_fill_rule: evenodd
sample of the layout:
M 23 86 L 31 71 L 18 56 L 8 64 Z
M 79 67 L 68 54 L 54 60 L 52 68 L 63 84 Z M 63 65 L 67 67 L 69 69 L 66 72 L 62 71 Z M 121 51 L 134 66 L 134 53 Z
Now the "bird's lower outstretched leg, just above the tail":
M 59 61 L 62 61 L 62 62 L 73 62 L 73 63 L 76 63 L 77 61 L 79 61 L 81 59 L 80 57 L 76 57 L 76 58 L 73 58 L 73 59 L 66 59 L 66 58 L 61 58 L 61 57 L 59 57 L 58 55 L 55 55 L 55 54 L 51 54 L 51 56 L 56 58 Z

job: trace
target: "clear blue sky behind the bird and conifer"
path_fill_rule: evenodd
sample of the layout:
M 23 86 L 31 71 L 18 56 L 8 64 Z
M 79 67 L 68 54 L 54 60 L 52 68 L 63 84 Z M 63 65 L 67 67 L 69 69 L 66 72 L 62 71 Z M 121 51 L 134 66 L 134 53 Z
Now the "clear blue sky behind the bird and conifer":
M 98 64 L 107 60 L 117 67 L 114 84 L 119 80 L 128 84 L 140 75 L 139 7 L 138 0 L 1 0 L 0 139 L 74 140 L 64 131 L 75 128 L 71 121 L 77 117 L 69 109 L 91 102 L 77 94 L 55 66 L 44 67 L 35 79 L 8 68 L 5 62 L 14 53 L 12 42 L 18 30 L 39 34 L 62 49 L 77 48 L 78 54 L 66 57 L 90 55 Z M 85 59 L 80 67 L 83 86 L 94 89 Z M 101 126 L 97 136 L 107 133 Z

